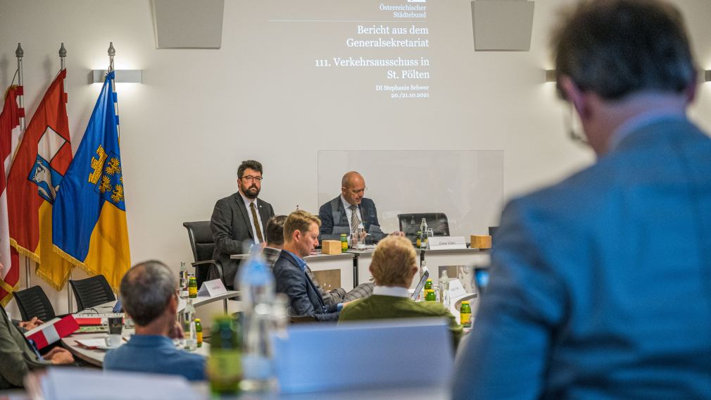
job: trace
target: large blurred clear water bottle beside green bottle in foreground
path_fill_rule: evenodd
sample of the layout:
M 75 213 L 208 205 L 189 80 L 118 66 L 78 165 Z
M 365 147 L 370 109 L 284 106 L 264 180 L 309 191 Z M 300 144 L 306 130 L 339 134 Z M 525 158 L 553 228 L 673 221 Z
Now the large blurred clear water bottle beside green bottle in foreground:
M 257 246 L 240 265 L 238 280 L 244 305 L 240 386 L 245 391 L 269 391 L 276 388 L 274 354 L 269 338 L 273 327 L 274 275 Z

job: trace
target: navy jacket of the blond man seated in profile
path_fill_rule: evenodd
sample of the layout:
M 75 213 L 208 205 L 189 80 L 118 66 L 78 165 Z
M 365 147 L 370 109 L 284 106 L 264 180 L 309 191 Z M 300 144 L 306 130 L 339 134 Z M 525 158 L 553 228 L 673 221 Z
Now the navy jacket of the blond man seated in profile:
M 312 315 L 319 321 L 338 320 L 336 305 L 326 305 L 319 288 L 299 268 L 291 254 L 282 251 L 272 272 L 277 282 L 277 292 L 289 296 L 289 305 L 296 315 Z

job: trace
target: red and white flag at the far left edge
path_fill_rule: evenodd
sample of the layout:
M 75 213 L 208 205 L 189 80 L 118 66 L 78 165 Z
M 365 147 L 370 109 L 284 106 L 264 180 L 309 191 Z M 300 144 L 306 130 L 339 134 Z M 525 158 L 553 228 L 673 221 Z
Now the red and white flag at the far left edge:
M 22 110 L 17 98 L 22 88 L 11 86 L 5 93 L 4 106 L 0 114 L 0 304 L 7 305 L 20 279 L 18 253 L 10 247 L 10 231 L 7 213 L 7 173 L 12 160 L 12 152 L 17 144 Z

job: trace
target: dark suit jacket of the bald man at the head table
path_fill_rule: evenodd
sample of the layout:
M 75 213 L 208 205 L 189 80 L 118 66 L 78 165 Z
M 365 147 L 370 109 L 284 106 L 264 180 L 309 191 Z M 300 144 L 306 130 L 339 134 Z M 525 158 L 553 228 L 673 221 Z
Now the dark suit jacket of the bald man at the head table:
M 370 233 L 370 236 L 366 238 L 366 242 L 375 243 L 384 238 L 386 235 L 380 229 L 378 210 L 375 209 L 373 200 L 363 197 L 358 208 L 360 209 L 360 216 L 363 218 L 365 231 Z M 319 231 L 321 233 L 321 241 L 338 241 L 341 240 L 341 233 L 351 234 L 351 221 L 348 220 L 340 195 L 321 206 L 319 218 L 321 219 L 321 229 Z

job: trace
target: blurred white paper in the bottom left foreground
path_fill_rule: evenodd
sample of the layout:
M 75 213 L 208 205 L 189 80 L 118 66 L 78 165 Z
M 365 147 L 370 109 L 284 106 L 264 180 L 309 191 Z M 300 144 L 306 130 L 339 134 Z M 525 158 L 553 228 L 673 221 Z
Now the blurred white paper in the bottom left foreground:
M 31 377 L 26 388 L 33 399 L 38 389 L 46 400 L 200 399 L 188 380 L 176 375 L 50 368 L 44 377 Z

